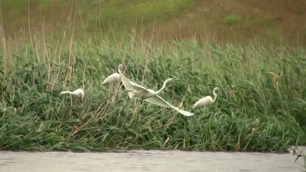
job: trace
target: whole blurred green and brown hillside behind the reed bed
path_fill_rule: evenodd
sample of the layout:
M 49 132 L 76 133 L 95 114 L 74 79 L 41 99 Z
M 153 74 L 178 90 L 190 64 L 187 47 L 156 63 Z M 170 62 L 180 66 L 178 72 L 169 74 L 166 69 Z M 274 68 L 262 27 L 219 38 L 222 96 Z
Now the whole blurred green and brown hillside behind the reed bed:
M 29 37 L 29 29 L 34 33 L 42 27 L 46 33 L 57 34 L 69 23 L 67 32 L 75 35 L 112 32 L 121 37 L 141 29 L 147 39 L 154 30 L 159 40 L 196 37 L 236 45 L 260 41 L 294 47 L 306 45 L 304 7 L 305 1 L 288 4 L 286 0 L 0 1 L 4 32 L 17 39 L 24 34 Z

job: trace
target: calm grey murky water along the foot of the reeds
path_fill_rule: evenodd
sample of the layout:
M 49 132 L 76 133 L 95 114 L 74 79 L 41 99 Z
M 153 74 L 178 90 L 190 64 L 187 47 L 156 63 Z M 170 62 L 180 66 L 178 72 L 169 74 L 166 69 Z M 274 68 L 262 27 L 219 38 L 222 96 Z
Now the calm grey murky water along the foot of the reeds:
M 306 147 L 303 147 L 306 149 Z M 292 153 L 131 150 L 122 153 L 0 151 L 0 171 L 305 171 Z

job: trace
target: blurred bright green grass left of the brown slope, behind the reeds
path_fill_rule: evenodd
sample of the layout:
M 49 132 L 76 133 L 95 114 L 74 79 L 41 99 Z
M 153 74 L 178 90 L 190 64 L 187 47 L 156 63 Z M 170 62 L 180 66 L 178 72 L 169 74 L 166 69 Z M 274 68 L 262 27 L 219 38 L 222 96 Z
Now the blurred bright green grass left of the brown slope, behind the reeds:
M 74 34 L 84 30 L 96 33 L 101 29 L 123 34 L 137 25 L 164 23 L 194 4 L 193 0 L 12 0 L 0 1 L 0 5 L 4 30 L 14 35 L 27 33 L 29 27 L 32 31 L 40 30 L 42 25 L 56 32 L 67 21 L 73 21 L 78 31 Z

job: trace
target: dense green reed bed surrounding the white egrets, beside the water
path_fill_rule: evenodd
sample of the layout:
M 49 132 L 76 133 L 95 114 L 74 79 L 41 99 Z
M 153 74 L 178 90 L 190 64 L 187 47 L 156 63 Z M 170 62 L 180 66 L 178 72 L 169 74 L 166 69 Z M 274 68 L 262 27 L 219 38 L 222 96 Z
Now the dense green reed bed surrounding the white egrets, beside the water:
M 305 49 L 39 37 L 6 47 L 0 58 L 2 66 L 7 61 L 0 72 L 0 149 L 275 151 L 298 137 L 305 143 Z M 213 87 L 223 91 L 205 112 L 184 117 L 131 101 L 123 87 L 102 87 L 121 63 L 127 77 L 154 90 L 176 78 L 161 95 L 188 111 Z M 58 96 L 77 88 L 84 88 L 84 101 Z

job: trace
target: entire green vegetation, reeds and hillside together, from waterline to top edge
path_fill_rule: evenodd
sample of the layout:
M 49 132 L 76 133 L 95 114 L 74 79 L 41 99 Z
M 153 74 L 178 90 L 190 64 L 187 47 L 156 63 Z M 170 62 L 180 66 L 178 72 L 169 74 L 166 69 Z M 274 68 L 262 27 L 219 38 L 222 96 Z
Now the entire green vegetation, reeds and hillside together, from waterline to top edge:
M 302 1 L 271 12 L 263 0 L 0 3 L 0 150 L 283 151 L 306 143 Z M 119 64 L 150 89 L 175 78 L 161 96 L 195 115 L 103 87 Z M 192 110 L 214 87 L 222 89 L 216 103 Z M 59 96 L 78 88 L 83 101 Z

